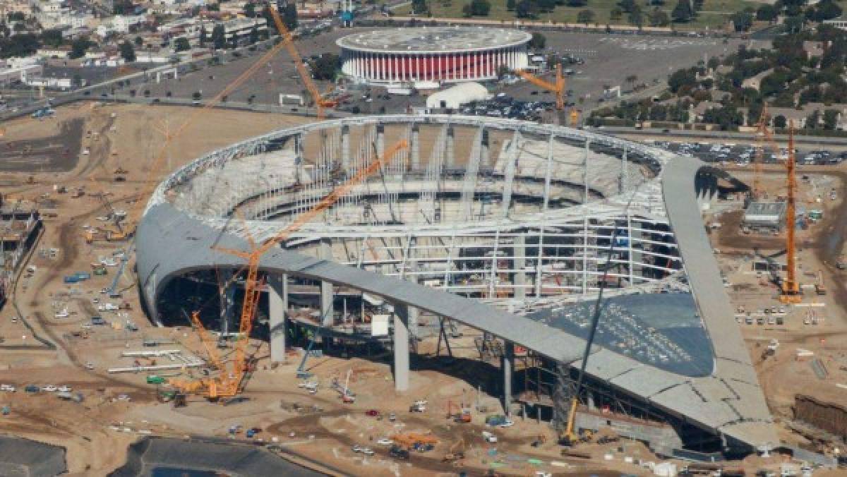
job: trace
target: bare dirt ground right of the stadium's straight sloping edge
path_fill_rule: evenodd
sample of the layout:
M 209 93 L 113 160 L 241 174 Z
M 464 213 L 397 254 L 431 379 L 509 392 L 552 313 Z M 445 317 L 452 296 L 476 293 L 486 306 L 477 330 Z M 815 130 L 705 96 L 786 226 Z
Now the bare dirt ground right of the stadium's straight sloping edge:
M 734 170 L 740 179 L 750 179 L 750 171 Z M 770 197 L 784 195 L 786 180 L 782 170 L 770 167 L 765 171 L 763 186 Z M 804 179 L 805 178 L 805 179 Z M 768 405 L 783 424 L 780 432 L 789 442 L 815 448 L 832 450 L 833 446 L 811 446 L 801 435 L 789 430 L 794 420 L 794 396 L 803 393 L 822 401 L 843 402 L 844 390 L 839 384 L 847 383 L 847 287 L 844 271 L 836 268 L 839 256 L 844 252 L 844 236 L 847 231 L 847 168 L 800 167 L 798 171 L 798 207 L 821 209 L 824 218 L 811 224 L 808 230 L 798 230 L 797 277 L 803 291 L 802 302 L 784 305 L 778 300 L 778 288 L 768 274 L 752 270 L 751 258 L 755 250 L 762 255 L 784 260 L 785 234 L 745 234 L 740 229 L 743 218 L 741 204 L 734 204 L 730 211 L 720 215 L 722 224 L 712 233 L 712 245 L 717 254 L 722 272 L 730 285 L 730 297 L 739 313 L 736 319 L 750 347 L 750 356 L 759 373 Z M 831 200 L 829 191 L 837 191 Z M 814 285 L 822 276 L 827 294 L 816 293 Z M 767 320 L 766 308 L 776 308 L 783 313 L 783 324 Z M 746 313 L 752 314 L 753 324 L 746 321 Z M 781 313 L 780 313 L 781 314 Z M 759 323 L 757 318 L 765 318 Z M 775 315 L 778 316 L 778 315 Z M 778 341 L 778 349 L 772 356 L 766 353 L 772 340 Z M 827 375 L 820 378 L 811 362 L 820 360 Z M 790 379 L 786 379 L 790 376 Z

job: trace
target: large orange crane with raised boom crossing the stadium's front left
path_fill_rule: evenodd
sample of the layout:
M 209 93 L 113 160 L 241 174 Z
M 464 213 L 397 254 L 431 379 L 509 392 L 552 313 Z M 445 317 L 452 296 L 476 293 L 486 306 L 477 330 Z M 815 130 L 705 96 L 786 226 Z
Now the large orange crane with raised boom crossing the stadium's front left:
M 246 343 L 250 338 L 253 316 L 256 314 L 258 299 L 263 287 L 262 281 L 258 278 L 259 263 L 263 255 L 271 248 L 276 247 L 280 241 L 285 241 L 285 239 L 291 236 L 292 232 L 300 229 L 303 225 L 306 225 L 309 221 L 318 217 L 318 215 L 323 214 L 324 210 L 332 206 L 332 204 L 337 202 L 354 186 L 357 186 L 358 183 L 367 180 L 369 175 L 374 174 L 374 172 L 381 168 L 388 159 L 393 158 L 396 153 L 401 151 L 401 149 L 407 148 L 408 145 L 408 141 L 398 141 L 385 151 L 382 158 L 379 158 L 379 156 L 374 158 L 374 161 L 371 162 L 371 164 L 368 164 L 368 167 L 358 170 L 357 173 L 344 184 L 335 187 L 335 189 L 329 192 L 326 197 L 321 199 L 317 205 L 307 212 L 299 215 L 291 222 L 291 224 L 287 225 L 283 230 L 280 230 L 279 233 L 269 238 L 267 241 L 257 244 L 252 240 L 252 237 L 248 237 L 247 241 L 251 247 L 250 251 L 245 252 L 232 248 L 213 247 L 219 252 L 235 255 L 235 257 L 243 258 L 247 262 L 245 268 L 246 280 L 244 281 L 244 302 L 241 307 L 241 321 L 239 325 L 239 331 L 242 338 L 235 347 L 235 358 L 232 360 L 233 366 L 231 370 L 221 369 L 221 373 L 217 376 L 201 380 L 187 382 L 182 380 L 172 380 L 170 382 L 174 385 L 174 387 L 185 393 L 202 393 L 209 399 L 234 397 L 238 394 L 241 389 L 241 380 L 244 378 L 246 371 L 248 371 L 245 350 Z M 199 320 L 197 320 L 195 325 L 198 323 Z M 197 326 L 197 330 L 201 332 L 202 339 L 202 331 L 205 330 L 202 328 L 202 324 Z

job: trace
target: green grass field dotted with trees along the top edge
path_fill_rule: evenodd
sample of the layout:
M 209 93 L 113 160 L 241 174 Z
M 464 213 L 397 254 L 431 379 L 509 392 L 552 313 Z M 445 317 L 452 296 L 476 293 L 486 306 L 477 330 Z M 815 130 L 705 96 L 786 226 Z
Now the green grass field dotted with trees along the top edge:
M 517 19 L 514 12 L 507 11 L 506 0 L 490 0 L 491 11 L 487 17 L 474 17 L 478 19 L 494 19 L 512 21 Z M 462 18 L 462 7 L 470 0 L 428 0 L 429 9 L 432 11 L 432 16 L 440 18 Z M 847 3 L 847 0 L 843 0 Z M 642 4 L 642 9 L 645 12 L 650 12 L 653 7 L 645 7 Z M 761 3 L 748 2 L 745 0 L 706 0 L 703 3 L 703 9 L 697 18 L 686 24 L 673 24 L 677 30 L 700 30 L 704 28 L 720 29 L 727 25 L 729 16 L 735 12 L 745 8 L 747 5 L 753 8 L 758 7 Z M 617 6 L 617 0 L 589 0 L 586 7 L 556 7 L 550 14 L 539 14 L 538 21 L 553 21 L 556 23 L 577 23 L 577 14 L 579 11 L 589 8 L 595 13 L 595 23 L 599 25 L 622 25 L 628 24 L 627 14 L 619 20 L 610 18 L 612 8 Z M 670 16 L 673 7 L 676 6 L 675 0 L 667 0 L 665 5 L 659 8 L 664 10 Z M 394 10 L 395 14 L 405 15 L 411 11 L 410 5 L 405 5 Z M 647 25 L 647 23 L 645 23 Z

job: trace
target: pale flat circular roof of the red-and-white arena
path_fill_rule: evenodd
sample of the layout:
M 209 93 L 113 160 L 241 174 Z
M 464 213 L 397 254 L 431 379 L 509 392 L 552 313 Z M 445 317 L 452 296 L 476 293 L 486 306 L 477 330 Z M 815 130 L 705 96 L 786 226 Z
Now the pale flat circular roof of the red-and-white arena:
M 505 28 L 436 26 L 374 30 L 343 36 L 342 48 L 372 53 L 454 53 L 517 47 L 529 33 Z

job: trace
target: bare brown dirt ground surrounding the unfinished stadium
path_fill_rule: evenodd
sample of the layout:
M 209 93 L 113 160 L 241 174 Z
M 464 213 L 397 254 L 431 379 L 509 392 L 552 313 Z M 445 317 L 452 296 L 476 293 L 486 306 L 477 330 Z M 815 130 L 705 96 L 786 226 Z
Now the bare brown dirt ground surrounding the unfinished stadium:
M 188 125 L 183 126 L 188 119 Z M 0 360 L 0 375 L 3 377 L 0 379 L 4 384 L 19 388 L 15 393 L 0 393 L 0 405 L 11 408 L 11 413 L 0 419 L 0 432 L 65 446 L 71 475 L 108 474 L 123 463 L 126 446 L 140 435 L 226 436 L 234 424 L 241 424 L 244 428 L 257 426 L 263 429 L 257 439 L 277 442 L 303 456 L 357 475 L 455 474 L 459 470 L 467 470 L 473 475 L 483 474 L 484 469 L 490 468 L 496 468 L 501 474 L 515 475 L 533 474 L 535 470 L 555 474 L 649 474 L 634 463 L 626 462 L 625 458 L 632 458 L 635 462 L 639 459 L 657 460 L 639 444 L 591 444 L 580 449 L 590 452 L 590 461 L 562 458 L 561 447 L 554 442 L 549 426 L 529 419 L 516 418 L 513 427 L 493 430 L 499 442 L 496 445 L 485 443 L 481 436 L 485 429 L 484 413 L 473 413 L 471 424 L 455 424 L 446 419 L 450 403 L 470 402 L 475 392 L 466 380 L 457 377 L 462 376 L 461 372 L 437 368 L 417 370 L 412 373 L 410 391 L 399 395 L 394 391 L 390 367 L 385 363 L 358 358 L 317 358 L 310 361 L 309 369 L 319 383 L 318 391 L 309 395 L 297 386 L 298 381 L 294 378 L 299 355 L 291 354 L 288 363 L 271 367 L 267 343 L 263 343 L 257 353 L 261 357 L 257 372 L 246 387 L 247 402 L 222 406 L 192 398 L 187 407 L 175 409 L 168 403 L 157 401 L 156 387 L 146 384 L 146 374 L 107 372 L 109 368 L 132 365 L 132 358 L 121 358 L 121 352 L 157 349 L 144 348 L 142 342 L 145 340 L 162 341 L 158 349 L 175 349 L 185 355 L 203 356 L 204 353 L 190 329 L 155 328 L 138 311 L 140 307 L 131 261 L 119 278 L 123 297 L 111 300 L 128 302 L 128 310 L 119 313 L 97 310 L 98 304 L 110 301 L 101 291 L 111 284 L 117 267 L 108 266 L 105 276 L 95 275 L 91 280 L 64 284 L 64 275 L 90 271 L 91 263 L 113 257 L 126 245 L 124 242 L 101 241 L 88 244 L 84 240 L 83 226 L 97 224 L 97 218 L 106 212 L 96 194 L 102 192 L 114 208 L 128 212 L 129 222 L 135 222 L 152 186 L 169 171 L 214 148 L 285 125 L 296 125 L 303 120 L 200 108 L 78 103 L 59 108 L 54 118 L 18 119 L 5 125 L 6 134 L 0 139 L 0 158 L 3 158 L 3 151 L 14 152 L 16 147 L 22 151 L 19 147 L 23 141 L 52 144 L 51 141 L 57 141 L 55 138 L 67 138 L 72 128 L 76 128 L 80 139 L 74 142 L 67 138 L 78 151 L 66 154 L 61 147 L 53 147 L 39 151 L 43 159 L 18 163 L 25 164 L 26 169 L 10 172 L 10 169 L 0 167 L 0 183 L 4 185 L 7 201 L 35 202 L 54 214 L 44 220 L 42 236 L 27 262 L 35 266 L 36 271 L 19 280 L 15 302 L 36 334 L 58 346 L 55 352 L 0 350 L 3 357 Z M 174 138 L 170 145 L 165 141 L 168 136 Z M 307 152 L 308 147 L 307 144 Z M 457 153 L 457 157 L 462 156 Z M 45 168 L 42 164 L 52 165 Z M 118 169 L 126 172 L 116 174 Z M 32 180 L 28 180 L 30 176 Z M 115 181 L 115 177 L 125 180 Z M 837 180 L 839 190 L 843 190 L 843 178 Z M 828 182 L 820 184 L 826 186 Z M 68 191 L 83 187 L 86 194 L 72 198 L 69 193 L 59 193 L 58 186 L 64 186 Z M 815 247 L 818 242 L 814 237 L 827 235 L 822 233 L 823 230 L 838 229 L 843 234 L 847 220 L 836 218 L 837 214 L 844 214 L 843 208 L 835 212 L 840 202 L 826 202 L 825 205 L 827 215 L 823 223 L 802 234 L 803 240 L 809 241 L 810 245 L 804 245 L 801 263 L 803 270 L 817 270 L 821 267 L 817 263 L 822 258 L 826 259 L 822 269 L 833 290 L 837 288 L 836 280 L 840 280 L 830 265 L 835 252 L 819 257 L 816 250 L 820 247 Z M 722 249 L 719 257 L 734 284 L 743 285 L 745 280 L 752 284 L 734 290 L 734 300 L 761 303 L 749 305 L 750 308 L 763 307 L 765 303 L 773 302 L 775 291 L 764 286 L 757 289 L 758 277 L 742 270 L 743 260 L 739 261 L 736 252 L 745 252 L 748 246 L 742 240 L 748 240 L 749 236 L 732 235 L 731 229 L 725 225 L 721 233 L 714 236 L 718 241 L 716 247 Z M 722 237 L 724 233 L 727 234 L 725 240 Z M 828 235 L 832 234 L 828 232 Z M 763 249 L 778 248 L 774 241 L 761 245 Z M 52 248 L 57 249 L 54 254 L 49 252 Z M 840 282 L 838 286 L 841 286 Z M 780 330 L 742 325 L 745 337 L 750 341 L 751 352 L 756 357 L 761 354 L 761 343 L 767 344 L 771 336 L 778 337 L 783 343 L 776 356 L 761 363 L 760 359 L 756 359 L 769 403 L 778 416 L 789 416 L 795 387 L 820 388 L 822 393 L 829 389 L 837 394 L 839 388 L 833 382 L 847 382 L 847 377 L 840 377 L 844 371 L 837 364 L 839 359 L 844 358 L 839 349 L 844 348 L 844 336 L 847 336 L 847 321 L 838 303 L 839 293 L 844 291 L 836 293 L 833 290 L 826 297 L 815 297 L 824 303 L 821 313 L 826 313 L 826 319 L 816 326 L 802 324 L 801 316 L 805 309 L 800 307 L 792 309 L 790 315 L 793 318 Z M 22 320 L 13 319 L 17 313 L 11 305 L 9 303 L 0 313 L 0 336 L 5 338 L 4 346 L 36 344 Z M 67 311 L 67 316 L 60 313 L 64 311 Z M 108 325 L 90 326 L 89 319 L 94 315 L 102 315 Z M 135 324 L 138 330 L 128 330 L 127 322 Z M 822 338 L 826 339 L 825 345 L 821 344 Z M 421 352 L 431 352 L 431 345 L 422 343 Z M 830 379 L 818 382 L 808 363 L 794 361 L 795 347 L 819 353 L 817 356 L 826 361 L 831 372 Z M 454 351 L 468 358 L 475 354 L 473 347 L 462 348 L 461 342 L 456 343 Z M 786 385 L 781 380 L 786 366 L 791 367 L 801 384 Z M 329 388 L 333 378 L 343 379 L 348 370 L 352 370 L 351 388 L 358 394 L 357 402 L 352 405 L 342 404 L 338 393 Z M 191 376 L 197 372 L 178 369 L 175 373 Z M 64 402 L 48 392 L 30 395 L 23 392 L 23 387 L 28 384 L 69 385 L 74 392 L 81 392 L 85 401 L 80 404 Z M 426 412 L 408 412 L 415 399 L 429 402 Z M 500 405 L 494 397 L 483 395 L 480 401 L 489 408 L 488 413 L 500 412 Z M 295 404 L 299 406 L 296 408 Z M 383 415 L 396 413 L 396 422 L 366 416 L 365 412 L 372 408 L 379 409 Z M 376 441 L 399 431 L 431 431 L 439 444 L 433 452 L 414 453 L 409 463 L 398 462 L 389 458 L 387 448 Z M 545 443 L 530 446 L 529 443 L 539 435 L 545 435 Z M 246 439 L 243 434 L 233 438 Z M 787 432 L 786 438 L 796 439 Z M 355 444 L 371 446 L 376 454 L 366 457 L 354 453 L 351 446 Z M 464 447 L 466 458 L 461 466 L 442 462 L 454 444 L 456 449 Z M 606 455 L 611 460 L 607 460 Z M 538 458 L 545 464 L 531 465 L 527 458 Z M 759 462 L 750 463 L 754 464 L 759 465 Z

